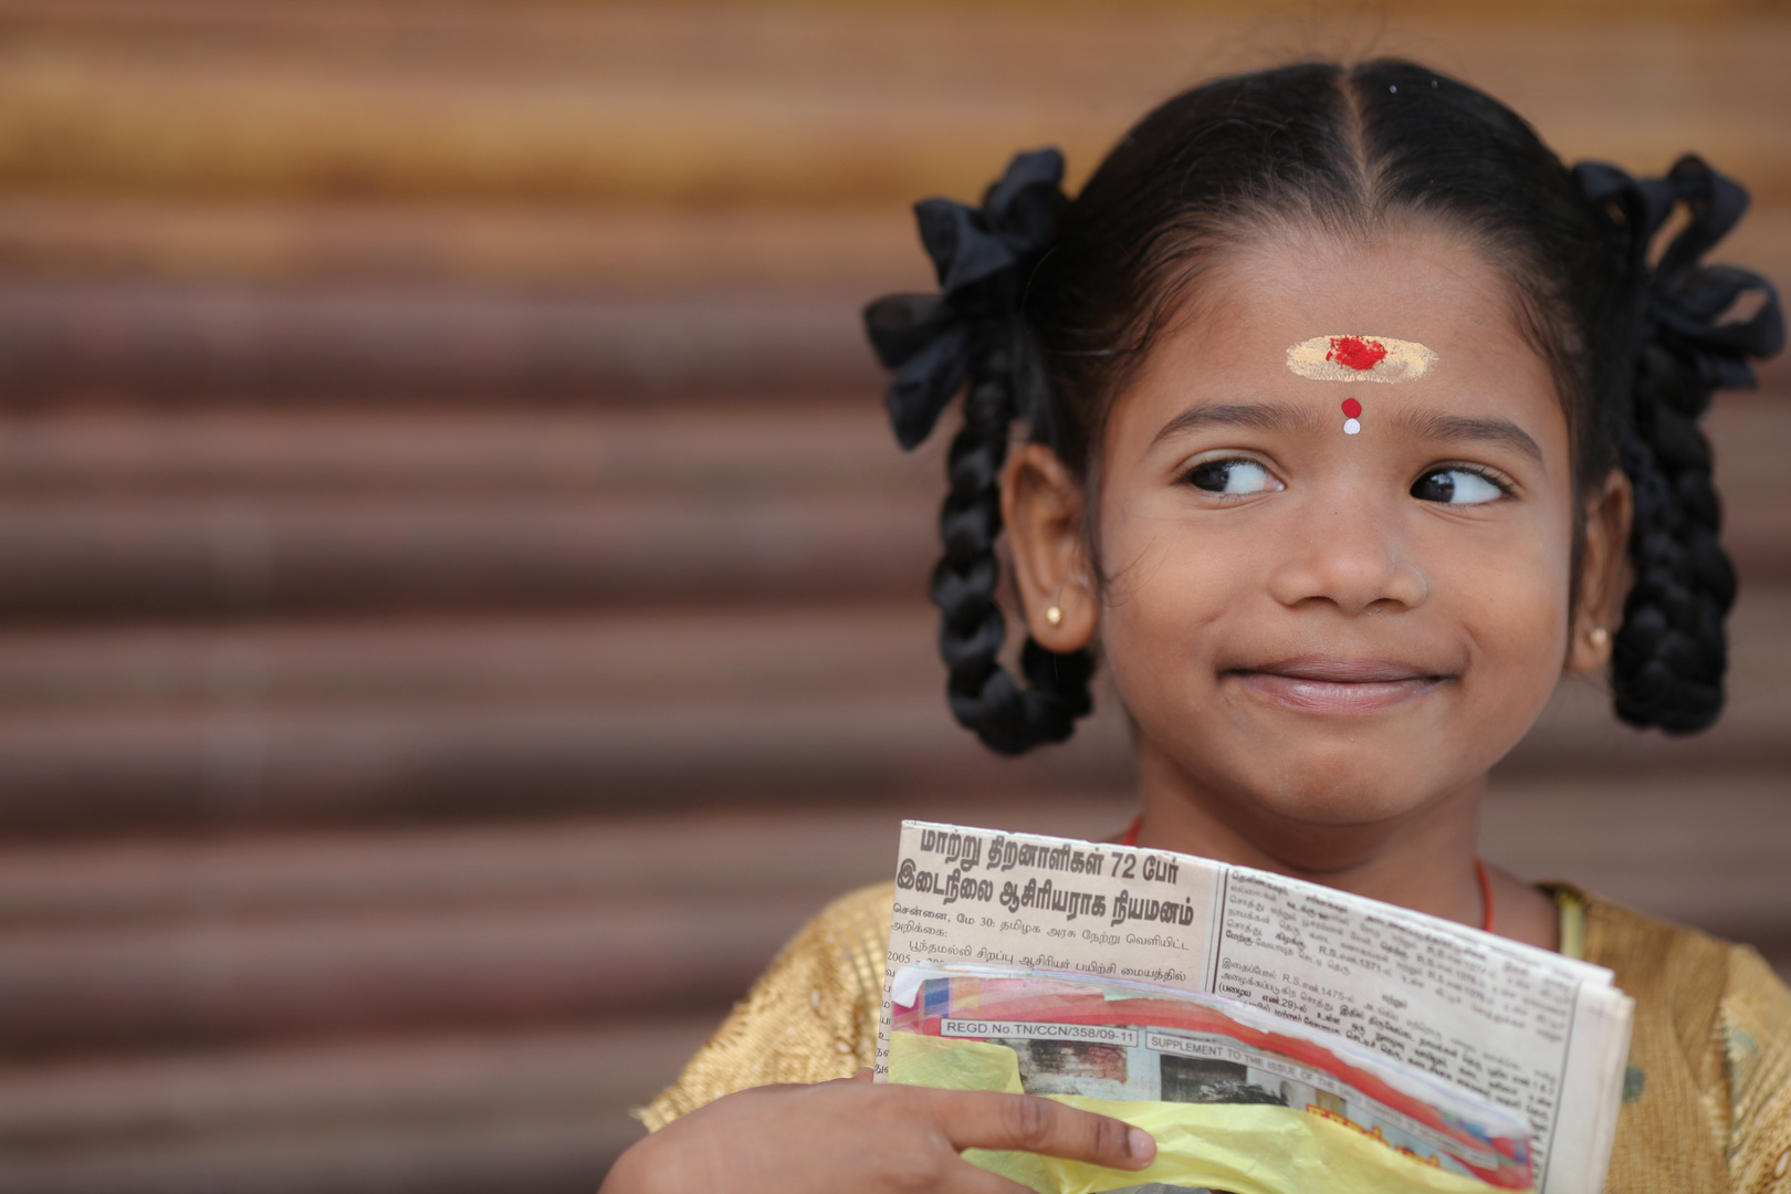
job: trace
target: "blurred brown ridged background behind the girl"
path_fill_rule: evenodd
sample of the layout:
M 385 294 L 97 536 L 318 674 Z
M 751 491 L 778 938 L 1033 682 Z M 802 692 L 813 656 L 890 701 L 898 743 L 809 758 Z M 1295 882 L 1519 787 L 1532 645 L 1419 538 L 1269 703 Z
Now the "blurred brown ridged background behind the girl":
M 591 1190 L 901 814 L 1107 834 L 1110 702 L 980 752 L 906 204 L 1291 55 L 1696 147 L 1791 281 L 1780 2 L 0 0 L 0 1192 Z M 1703 738 L 1565 691 L 1488 854 L 1791 967 L 1791 367 L 1712 426 Z

